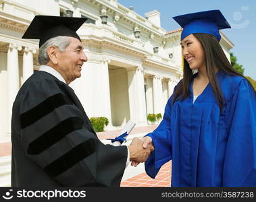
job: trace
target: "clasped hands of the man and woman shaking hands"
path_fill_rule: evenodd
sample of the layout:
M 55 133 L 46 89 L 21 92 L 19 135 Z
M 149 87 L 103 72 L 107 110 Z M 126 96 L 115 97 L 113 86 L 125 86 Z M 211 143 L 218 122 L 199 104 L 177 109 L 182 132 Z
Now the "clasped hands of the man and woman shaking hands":
M 145 162 L 151 151 L 154 150 L 151 137 L 143 137 L 138 139 L 135 137 L 132 139 L 132 143 L 128 146 L 130 151 L 130 161 L 132 166 L 137 166 L 140 162 Z

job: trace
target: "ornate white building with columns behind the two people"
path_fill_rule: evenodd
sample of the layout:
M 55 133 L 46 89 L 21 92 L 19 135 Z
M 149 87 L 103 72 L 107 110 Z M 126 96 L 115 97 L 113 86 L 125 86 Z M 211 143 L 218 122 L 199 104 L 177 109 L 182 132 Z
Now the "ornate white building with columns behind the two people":
M 120 126 L 129 119 L 146 125 L 147 114 L 163 114 L 182 76 L 181 30 L 161 28 L 159 11 L 144 18 L 117 0 L 0 0 L 0 142 L 10 141 L 11 106 L 19 88 L 39 69 L 38 40 L 22 35 L 34 15 L 67 10 L 88 18 L 78 30 L 88 61 L 82 77 L 70 84 L 87 115 Z M 234 44 L 224 34 L 221 44 L 230 58 Z

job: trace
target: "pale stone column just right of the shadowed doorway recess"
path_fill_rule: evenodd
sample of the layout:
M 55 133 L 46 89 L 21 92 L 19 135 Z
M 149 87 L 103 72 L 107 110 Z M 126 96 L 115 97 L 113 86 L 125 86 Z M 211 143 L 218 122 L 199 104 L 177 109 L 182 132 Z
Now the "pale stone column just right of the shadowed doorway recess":
M 127 69 L 130 119 L 137 125 L 147 124 L 143 67 Z

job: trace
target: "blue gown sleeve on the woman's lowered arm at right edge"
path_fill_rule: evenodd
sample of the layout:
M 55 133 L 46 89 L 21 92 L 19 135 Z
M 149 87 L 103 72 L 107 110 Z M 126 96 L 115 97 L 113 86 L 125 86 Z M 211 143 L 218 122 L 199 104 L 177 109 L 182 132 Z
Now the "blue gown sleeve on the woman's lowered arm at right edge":
M 242 79 L 227 104 L 224 187 L 256 187 L 256 96 Z

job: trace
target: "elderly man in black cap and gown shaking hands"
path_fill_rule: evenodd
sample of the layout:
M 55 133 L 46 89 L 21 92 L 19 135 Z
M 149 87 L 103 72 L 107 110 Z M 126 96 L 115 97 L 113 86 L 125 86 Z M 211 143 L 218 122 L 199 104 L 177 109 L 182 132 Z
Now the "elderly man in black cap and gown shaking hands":
M 82 18 L 39 15 L 23 38 L 39 38 L 40 71 L 22 86 L 11 120 L 14 187 L 119 187 L 129 160 L 145 162 L 153 146 L 99 141 L 68 84 L 87 57 L 76 30 Z M 93 85 L 93 83 L 92 83 Z

